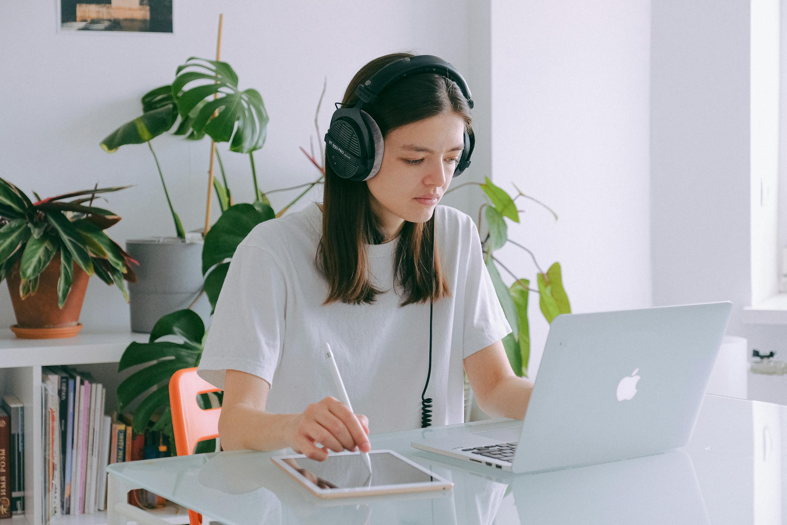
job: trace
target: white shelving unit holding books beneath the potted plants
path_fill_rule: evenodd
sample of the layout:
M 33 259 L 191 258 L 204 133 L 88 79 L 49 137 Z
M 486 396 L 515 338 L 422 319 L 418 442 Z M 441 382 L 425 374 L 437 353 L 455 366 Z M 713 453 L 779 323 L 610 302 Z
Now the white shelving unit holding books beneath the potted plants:
M 126 332 L 91 332 L 87 328 L 73 338 L 20 339 L 9 329 L 0 329 L 0 394 L 13 394 L 24 403 L 24 484 L 25 515 L 7 521 L 9 525 L 42 525 L 41 485 L 41 368 L 66 364 L 90 370 L 113 394 L 120 377 L 113 364 L 133 341 L 146 342 L 147 334 Z M 110 404 L 111 398 L 111 404 Z M 114 395 L 108 397 L 109 407 Z M 156 514 L 169 523 L 188 523 L 183 507 L 167 505 Z M 106 512 L 63 516 L 54 525 L 105 525 Z

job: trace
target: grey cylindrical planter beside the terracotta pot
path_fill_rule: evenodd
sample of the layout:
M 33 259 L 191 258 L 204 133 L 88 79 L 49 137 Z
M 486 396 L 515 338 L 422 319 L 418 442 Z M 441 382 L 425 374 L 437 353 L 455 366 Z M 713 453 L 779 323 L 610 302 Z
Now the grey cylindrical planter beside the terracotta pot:
M 161 317 L 187 309 L 202 289 L 202 238 L 137 238 L 126 241 L 126 251 L 139 261 L 136 283 L 128 283 L 131 331 L 150 333 Z M 192 308 L 202 320 L 210 315 L 205 294 Z

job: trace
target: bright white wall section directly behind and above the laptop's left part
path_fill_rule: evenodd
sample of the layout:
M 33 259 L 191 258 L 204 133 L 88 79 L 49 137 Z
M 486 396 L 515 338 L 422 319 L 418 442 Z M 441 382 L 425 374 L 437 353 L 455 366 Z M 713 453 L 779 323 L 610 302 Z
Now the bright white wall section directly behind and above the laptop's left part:
M 560 216 L 519 199 L 508 232 L 544 270 L 560 261 L 573 312 L 651 305 L 649 55 L 645 0 L 492 2 L 494 180 Z M 501 258 L 535 286 L 527 253 Z M 549 328 L 538 294 L 528 314 L 534 377 Z

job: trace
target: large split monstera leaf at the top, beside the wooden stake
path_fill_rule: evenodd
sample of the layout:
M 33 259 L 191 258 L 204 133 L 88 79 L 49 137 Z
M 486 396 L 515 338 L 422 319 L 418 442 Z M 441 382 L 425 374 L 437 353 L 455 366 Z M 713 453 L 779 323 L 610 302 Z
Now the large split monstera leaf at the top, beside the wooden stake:
M 179 66 L 172 83 L 183 123 L 194 139 L 209 135 L 215 142 L 230 142 L 230 150 L 250 153 L 265 142 L 268 112 L 257 90 L 238 88 L 238 75 L 227 62 L 190 57 Z

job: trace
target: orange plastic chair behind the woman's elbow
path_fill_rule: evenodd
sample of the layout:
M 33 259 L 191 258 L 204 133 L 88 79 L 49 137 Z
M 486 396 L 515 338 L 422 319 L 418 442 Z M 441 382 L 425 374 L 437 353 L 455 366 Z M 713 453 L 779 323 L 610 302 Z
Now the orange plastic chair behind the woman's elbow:
M 203 410 L 197 404 L 197 396 L 220 391 L 197 375 L 197 368 L 182 368 L 172 374 L 169 405 L 178 456 L 193 453 L 198 442 L 219 437 L 221 408 Z M 189 510 L 189 523 L 201 525 L 202 515 Z

